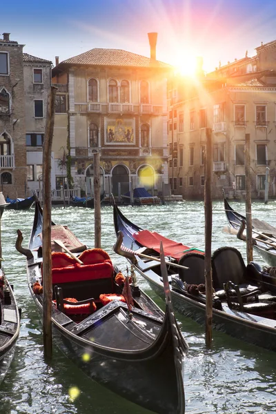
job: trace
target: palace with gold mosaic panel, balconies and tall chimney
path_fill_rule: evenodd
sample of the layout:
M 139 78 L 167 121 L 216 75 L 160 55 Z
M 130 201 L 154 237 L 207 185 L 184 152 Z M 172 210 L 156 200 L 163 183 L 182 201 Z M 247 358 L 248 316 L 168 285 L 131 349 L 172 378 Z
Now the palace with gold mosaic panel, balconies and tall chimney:
M 167 84 L 171 67 L 156 60 L 157 34 L 149 34 L 150 58 L 125 50 L 92 49 L 52 69 L 59 90 L 54 146 L 59 166 L 66 148 L 68 172 L 92 192 L 93 152 L 100 153 L 106 194 L 144 186 L 159 193 L 168 183 Z M 56 155 L 57 154 L 57 155 Z M 57 184 L 66 179 L 57 173 Z

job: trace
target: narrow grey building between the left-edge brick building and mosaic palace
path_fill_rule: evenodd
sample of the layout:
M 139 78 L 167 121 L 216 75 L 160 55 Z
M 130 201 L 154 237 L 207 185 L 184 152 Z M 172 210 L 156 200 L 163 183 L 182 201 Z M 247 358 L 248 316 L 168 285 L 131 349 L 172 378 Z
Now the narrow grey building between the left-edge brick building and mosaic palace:
M 42 146 L 51 69 L 51 61 L 23 53 L 28 195 L 42 186 Z M 54 152 L 51 175 L 51 187 L 55 188 Z

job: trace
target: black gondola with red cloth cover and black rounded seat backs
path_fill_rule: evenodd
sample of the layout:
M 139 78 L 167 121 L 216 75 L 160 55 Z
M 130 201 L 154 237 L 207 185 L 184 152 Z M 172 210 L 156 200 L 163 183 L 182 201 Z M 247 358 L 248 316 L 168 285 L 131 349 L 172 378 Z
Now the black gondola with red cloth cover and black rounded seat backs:
M 179 313 L 200 324 L 206 320 L 204 253 L 143 230 L 132 224 L 113 201 L 115 232 L 121 237 L 114 250 L 128 259 L 150 287 L 164 297 L 163 278 L 157 259 L 164 244 L 172 304 Z M 188 269 L 179 268 L 186 266 Z M 212 255 L 213 327 L 276 351 L 276 277 L 241 253 L 222 247 Z

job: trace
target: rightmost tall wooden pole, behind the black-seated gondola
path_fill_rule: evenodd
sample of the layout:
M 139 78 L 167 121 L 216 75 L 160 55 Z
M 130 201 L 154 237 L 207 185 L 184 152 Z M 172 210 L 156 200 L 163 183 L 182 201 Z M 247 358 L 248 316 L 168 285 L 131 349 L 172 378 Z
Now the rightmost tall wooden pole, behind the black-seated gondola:
M 247 263 L 253 261 L 252 215 L 251 215 L 251 179 L 250 179 L 250 134 L 246 134 L 245 147 L 246 172 L 246 255 Z

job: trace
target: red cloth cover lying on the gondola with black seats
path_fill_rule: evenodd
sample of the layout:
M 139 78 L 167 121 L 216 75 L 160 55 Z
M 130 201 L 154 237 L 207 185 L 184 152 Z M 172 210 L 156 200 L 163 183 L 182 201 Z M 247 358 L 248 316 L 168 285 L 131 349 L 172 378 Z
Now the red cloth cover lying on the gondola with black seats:
M 204 255 L 204 252 L 200 252 L 199 250 L 190 250 L 188 246 L 166 239 L 166 237 L 159 235 L 159 233 L 156 233 L 155 231 L 141 230 L 139 233 L 134 233 L 133 237 L 142 246 L 152 248 L 158 253 L 160 253 L 160 242 L 162 242 L 165 256 L 170 256 L 177 260 L 185 254 L 184 250 L 189 250 L 187 253 L 193 252 L 199 253 L 199 255 Z

